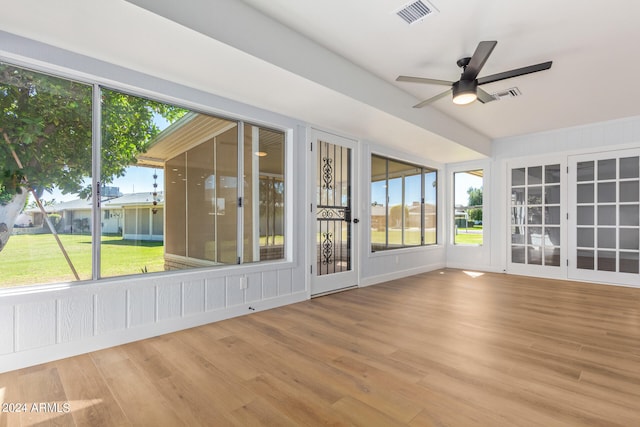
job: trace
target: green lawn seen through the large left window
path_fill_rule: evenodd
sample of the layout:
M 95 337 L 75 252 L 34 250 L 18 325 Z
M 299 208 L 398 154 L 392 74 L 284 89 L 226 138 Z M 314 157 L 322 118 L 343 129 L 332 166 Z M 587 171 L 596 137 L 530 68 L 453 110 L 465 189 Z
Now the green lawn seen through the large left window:
M 60 235 L 80 279 L 91 279 L 91 237 Z M 162 242 L 102 237 L 102 277 L 164 270 Z M 11 236 L 0 252 L 0 287 L 75 280 L 51 234 Z

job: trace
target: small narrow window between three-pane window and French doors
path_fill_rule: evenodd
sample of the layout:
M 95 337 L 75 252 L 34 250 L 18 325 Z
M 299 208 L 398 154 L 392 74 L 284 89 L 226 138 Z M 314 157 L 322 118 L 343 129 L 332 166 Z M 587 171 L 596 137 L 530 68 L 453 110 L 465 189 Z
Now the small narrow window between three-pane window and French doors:
M 482 169 L 453 174 L 453 242 L 456 245 L 482 245 L 483 175 L 484 171 Z

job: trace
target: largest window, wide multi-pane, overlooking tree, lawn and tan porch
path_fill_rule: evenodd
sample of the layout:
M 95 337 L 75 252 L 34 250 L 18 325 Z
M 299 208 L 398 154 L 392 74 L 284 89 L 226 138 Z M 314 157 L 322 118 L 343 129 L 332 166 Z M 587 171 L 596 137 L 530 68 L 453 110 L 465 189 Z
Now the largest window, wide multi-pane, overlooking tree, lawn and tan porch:
M 284 132 L 6 64 L 0 105 L 0 287 L 284 258 Z

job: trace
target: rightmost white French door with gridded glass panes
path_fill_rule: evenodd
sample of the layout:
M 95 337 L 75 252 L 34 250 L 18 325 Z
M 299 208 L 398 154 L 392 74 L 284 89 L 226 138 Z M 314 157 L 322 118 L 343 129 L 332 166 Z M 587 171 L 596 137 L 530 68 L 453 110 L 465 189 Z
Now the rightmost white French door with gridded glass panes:
M 640 150 L 569 157 L 569 277 L 640 286 Z

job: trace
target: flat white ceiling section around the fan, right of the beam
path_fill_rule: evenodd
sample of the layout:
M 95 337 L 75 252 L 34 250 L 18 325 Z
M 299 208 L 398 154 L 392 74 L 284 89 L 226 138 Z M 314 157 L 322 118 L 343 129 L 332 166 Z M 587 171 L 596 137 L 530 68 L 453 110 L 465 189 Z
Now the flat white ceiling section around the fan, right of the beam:
M 498 45 L 480 77 L 552 60 L 549 71 L 482 86 L 489 93 L 517 86 L 521 97 L 433 104 L 491 138 L 640 113 L 637 1 L 433 0 L 439 13 L 411 26 L 394 14 L 408 0 L 243 1 L 417 99 L 443 87 L 397 83 L 398 75 L 455 81 L 456 61 L 481 40 Z

